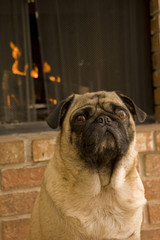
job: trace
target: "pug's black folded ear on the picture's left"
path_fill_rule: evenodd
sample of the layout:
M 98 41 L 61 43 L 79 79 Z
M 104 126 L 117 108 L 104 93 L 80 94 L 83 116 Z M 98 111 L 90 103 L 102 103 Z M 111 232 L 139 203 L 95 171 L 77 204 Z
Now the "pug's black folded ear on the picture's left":
M 46 121 L 48 125 L 56 129 L 58 126 L 62 127 L 66 113 L 74 99 L 74 95 L 62 100 L 60 104 L 49 114 Z

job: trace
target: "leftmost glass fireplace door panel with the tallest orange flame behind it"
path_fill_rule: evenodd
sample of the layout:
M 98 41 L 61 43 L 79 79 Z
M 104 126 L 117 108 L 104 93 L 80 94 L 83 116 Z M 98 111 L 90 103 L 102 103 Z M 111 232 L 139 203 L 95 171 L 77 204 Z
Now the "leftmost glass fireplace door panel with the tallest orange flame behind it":
M 36 120 L 28 3 L 0 1 L 0 122 Z

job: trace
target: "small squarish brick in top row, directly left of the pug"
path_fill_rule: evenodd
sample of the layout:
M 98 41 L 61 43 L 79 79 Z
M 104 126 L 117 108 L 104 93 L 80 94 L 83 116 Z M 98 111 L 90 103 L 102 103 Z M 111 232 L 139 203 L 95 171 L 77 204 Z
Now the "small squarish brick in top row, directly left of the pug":
M 50 160 L 54 155 L 54 144 L 53 139 L 39 139 L 33 140 L 32 151 L 34 161 L 46 161 Z

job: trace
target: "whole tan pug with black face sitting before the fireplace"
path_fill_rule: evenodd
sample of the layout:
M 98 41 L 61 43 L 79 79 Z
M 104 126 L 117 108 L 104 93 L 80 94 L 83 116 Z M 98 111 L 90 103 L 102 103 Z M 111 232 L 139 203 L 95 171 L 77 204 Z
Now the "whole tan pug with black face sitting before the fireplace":
M 145 118 L 129 97 L 106 91 L 71 95 L 51 112 L 60 133 L 29 240 L 140 240 L 146 200 L 135 119 Z

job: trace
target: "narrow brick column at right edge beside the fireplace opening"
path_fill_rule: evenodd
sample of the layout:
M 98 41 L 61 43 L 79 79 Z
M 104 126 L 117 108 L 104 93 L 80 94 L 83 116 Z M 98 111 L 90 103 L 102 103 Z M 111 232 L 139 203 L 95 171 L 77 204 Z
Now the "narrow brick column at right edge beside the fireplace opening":
M 155 118 L 160 122 L 160 0 L 150 0 Z

